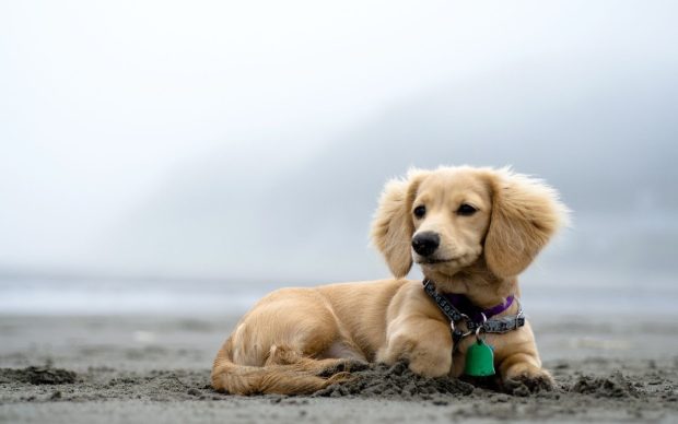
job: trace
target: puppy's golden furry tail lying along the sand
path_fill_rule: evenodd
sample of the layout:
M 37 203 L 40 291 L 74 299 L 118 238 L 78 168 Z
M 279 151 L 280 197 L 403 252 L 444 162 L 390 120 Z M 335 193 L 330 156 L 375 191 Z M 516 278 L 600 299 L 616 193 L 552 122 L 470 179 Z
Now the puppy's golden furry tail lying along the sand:
M 335 382 L 344 381 L 348 373 L 328 378 L 304 363 L 248 366 L 233 363 L 231 338 L 217 354 L 212 367 L 212 388 L 231 394 L 308 394 Z

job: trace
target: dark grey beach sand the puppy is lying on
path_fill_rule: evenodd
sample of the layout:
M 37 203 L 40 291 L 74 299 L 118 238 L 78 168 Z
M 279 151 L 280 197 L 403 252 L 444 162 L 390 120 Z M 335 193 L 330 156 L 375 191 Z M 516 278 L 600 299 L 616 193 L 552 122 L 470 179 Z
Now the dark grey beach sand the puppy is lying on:
M 396 364 L 305 397 L 209 387 L 235 319 L 0 317 L 0 422 L 678 422 L 678 325 L 667 317 L 534 322 L 551 392 L 506 394 Z

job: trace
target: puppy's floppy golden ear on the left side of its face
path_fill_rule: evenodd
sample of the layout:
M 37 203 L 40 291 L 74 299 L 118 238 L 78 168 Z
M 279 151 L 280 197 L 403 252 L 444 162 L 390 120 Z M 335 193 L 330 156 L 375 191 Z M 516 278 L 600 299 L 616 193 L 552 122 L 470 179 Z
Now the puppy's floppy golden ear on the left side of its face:
M 414 233 L 411 210 L 419 184 L 426 172 L 412 169 L 406 179 L 386 184 L 372 222 L 372 243 L 384 255 L 396 278 L 412 268 L 411 240 Z

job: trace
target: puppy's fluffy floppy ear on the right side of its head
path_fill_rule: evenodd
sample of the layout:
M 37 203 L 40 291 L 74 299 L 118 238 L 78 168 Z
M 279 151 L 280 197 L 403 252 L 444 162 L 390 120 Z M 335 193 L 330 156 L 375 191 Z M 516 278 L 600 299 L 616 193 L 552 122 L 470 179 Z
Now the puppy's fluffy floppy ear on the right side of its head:
M 568 208 L 558 192 L 538 179 L 508 168 L 489 173 L 492 216 L 484 242 L 484 257 L 496 276 L 511 278 L 529 266 L 561 226 Z

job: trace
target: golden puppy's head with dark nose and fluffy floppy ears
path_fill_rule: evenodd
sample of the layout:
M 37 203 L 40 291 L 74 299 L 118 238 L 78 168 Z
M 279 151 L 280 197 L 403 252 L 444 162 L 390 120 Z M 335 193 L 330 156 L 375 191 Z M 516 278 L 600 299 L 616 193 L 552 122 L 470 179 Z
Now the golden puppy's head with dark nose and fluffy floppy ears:
M 566 221 L 558 193 L 507 168 L 410 170 L 386 185 L 372 225 L 395 276 L 412 261 L 452 276 L 484 259 L 499 279 L 519 274 Z

